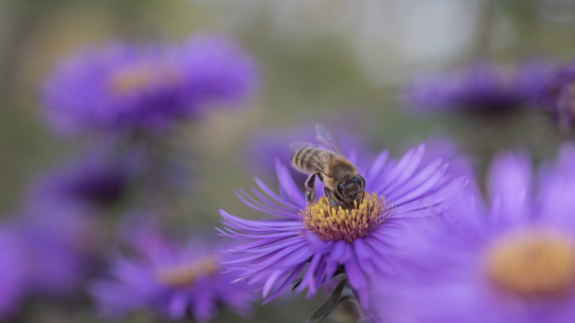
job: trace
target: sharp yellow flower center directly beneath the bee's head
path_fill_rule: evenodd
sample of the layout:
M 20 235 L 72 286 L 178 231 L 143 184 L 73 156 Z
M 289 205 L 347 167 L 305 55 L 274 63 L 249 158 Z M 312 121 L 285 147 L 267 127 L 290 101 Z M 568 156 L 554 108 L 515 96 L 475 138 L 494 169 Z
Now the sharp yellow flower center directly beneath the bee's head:
M 346 240 L 365 237 L 393 212 L 393 207 L 377 194 L 366 195 L 363 201 L 354 201 L 354 208 L 333 207 L 326 197 L 300 211 L 306 230 L 322 240 Z

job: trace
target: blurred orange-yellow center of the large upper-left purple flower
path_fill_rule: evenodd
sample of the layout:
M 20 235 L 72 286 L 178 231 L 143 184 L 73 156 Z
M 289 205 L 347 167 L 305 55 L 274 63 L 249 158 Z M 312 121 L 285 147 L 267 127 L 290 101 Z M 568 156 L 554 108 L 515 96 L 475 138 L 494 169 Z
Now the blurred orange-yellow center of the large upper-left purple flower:
M 140 63 L 118 70 L 110 80 L 110 88 L 114 93 L 125 93 L 145 89 L 151 83 L 175 84 L 178 78 L 175 68 Z

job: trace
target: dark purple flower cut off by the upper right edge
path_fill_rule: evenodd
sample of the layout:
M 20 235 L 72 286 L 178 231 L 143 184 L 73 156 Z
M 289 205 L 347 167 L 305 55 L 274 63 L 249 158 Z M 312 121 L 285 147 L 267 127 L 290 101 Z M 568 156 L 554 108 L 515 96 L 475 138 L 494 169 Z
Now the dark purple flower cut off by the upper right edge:
M 575 63 L 557 71 L 546 84 L 539 103 L 566 133 L 575 126 Z

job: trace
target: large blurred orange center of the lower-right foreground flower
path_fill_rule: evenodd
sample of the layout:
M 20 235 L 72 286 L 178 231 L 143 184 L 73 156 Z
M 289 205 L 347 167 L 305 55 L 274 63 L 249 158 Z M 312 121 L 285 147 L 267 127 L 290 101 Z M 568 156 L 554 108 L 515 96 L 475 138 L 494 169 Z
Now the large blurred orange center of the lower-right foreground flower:
M 489 269 L 494 282 L 516 294 L 562 294 L 575 282 L 575 247 L 557 234 L 516 234 L 494 245 Z

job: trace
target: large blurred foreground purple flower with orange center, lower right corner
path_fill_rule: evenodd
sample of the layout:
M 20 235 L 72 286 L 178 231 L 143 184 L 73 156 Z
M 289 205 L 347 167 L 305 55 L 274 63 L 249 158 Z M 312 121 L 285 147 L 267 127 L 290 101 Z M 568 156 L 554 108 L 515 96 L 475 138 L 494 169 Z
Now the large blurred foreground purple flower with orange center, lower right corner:
M 403 255 L 415 276 L 397 282 L 382 313 L 425 323 L 572 322 L 574 163 L 575 147 L 564 145 L 557 162 L 542 167 L 535 189 L 526 155 L 497 156 L 490 210 L 468 197 L 442 211 L 442 225 L 416 230 L 419 240 Z

